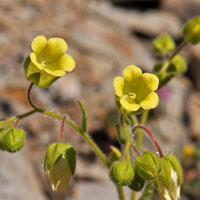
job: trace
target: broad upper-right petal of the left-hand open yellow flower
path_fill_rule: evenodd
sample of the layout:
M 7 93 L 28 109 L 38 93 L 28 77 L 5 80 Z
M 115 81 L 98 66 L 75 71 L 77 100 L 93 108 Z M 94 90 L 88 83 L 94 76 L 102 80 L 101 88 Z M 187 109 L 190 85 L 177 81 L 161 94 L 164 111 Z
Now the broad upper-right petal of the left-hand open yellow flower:
M 58 56 L 67 51 L 67 43 L 62 38 L 50 38 L 47 44 L 47 50 L 50 55 Z

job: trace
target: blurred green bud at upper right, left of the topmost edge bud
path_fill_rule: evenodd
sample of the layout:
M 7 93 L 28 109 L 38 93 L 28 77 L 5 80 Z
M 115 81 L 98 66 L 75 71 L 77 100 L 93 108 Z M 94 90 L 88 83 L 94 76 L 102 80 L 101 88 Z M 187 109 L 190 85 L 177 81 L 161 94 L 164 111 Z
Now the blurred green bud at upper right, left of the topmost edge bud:
M 153 46 L 156 54 L 163 55 L 167 52 L 172 52 L 176 45 L 171 36 L 163 33 L 153 41 Z

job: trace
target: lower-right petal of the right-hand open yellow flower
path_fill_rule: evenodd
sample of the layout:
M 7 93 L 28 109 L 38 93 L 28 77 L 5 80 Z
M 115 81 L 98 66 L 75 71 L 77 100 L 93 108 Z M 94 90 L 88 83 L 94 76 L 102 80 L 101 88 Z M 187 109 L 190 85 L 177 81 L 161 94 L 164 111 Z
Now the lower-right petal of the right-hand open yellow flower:
M 158 105 L 159 98 L 158 94 L 155 92 L 149 93 L 143 101 L 140 102 L 140 106 L 144 110 L 149 110 L 155 108 Z

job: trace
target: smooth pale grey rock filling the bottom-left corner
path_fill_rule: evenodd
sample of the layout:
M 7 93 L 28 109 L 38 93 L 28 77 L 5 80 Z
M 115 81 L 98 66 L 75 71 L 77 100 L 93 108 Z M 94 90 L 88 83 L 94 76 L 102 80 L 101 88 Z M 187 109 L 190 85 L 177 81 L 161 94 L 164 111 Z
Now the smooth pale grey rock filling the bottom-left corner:
M 25 151 L 26 148 L 18 153 L 0 152 L 1 199 L 45 200 Z

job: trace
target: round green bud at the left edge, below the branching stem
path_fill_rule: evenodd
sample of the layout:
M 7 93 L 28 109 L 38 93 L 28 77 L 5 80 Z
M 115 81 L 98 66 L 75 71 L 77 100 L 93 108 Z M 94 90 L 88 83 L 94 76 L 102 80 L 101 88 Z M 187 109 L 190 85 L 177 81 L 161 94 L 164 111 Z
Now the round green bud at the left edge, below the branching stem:
M 8 152 L 16 152 L 24 146 L 25 132 L 23 129 L 11 128 L 0 136 L 0 147 Z

